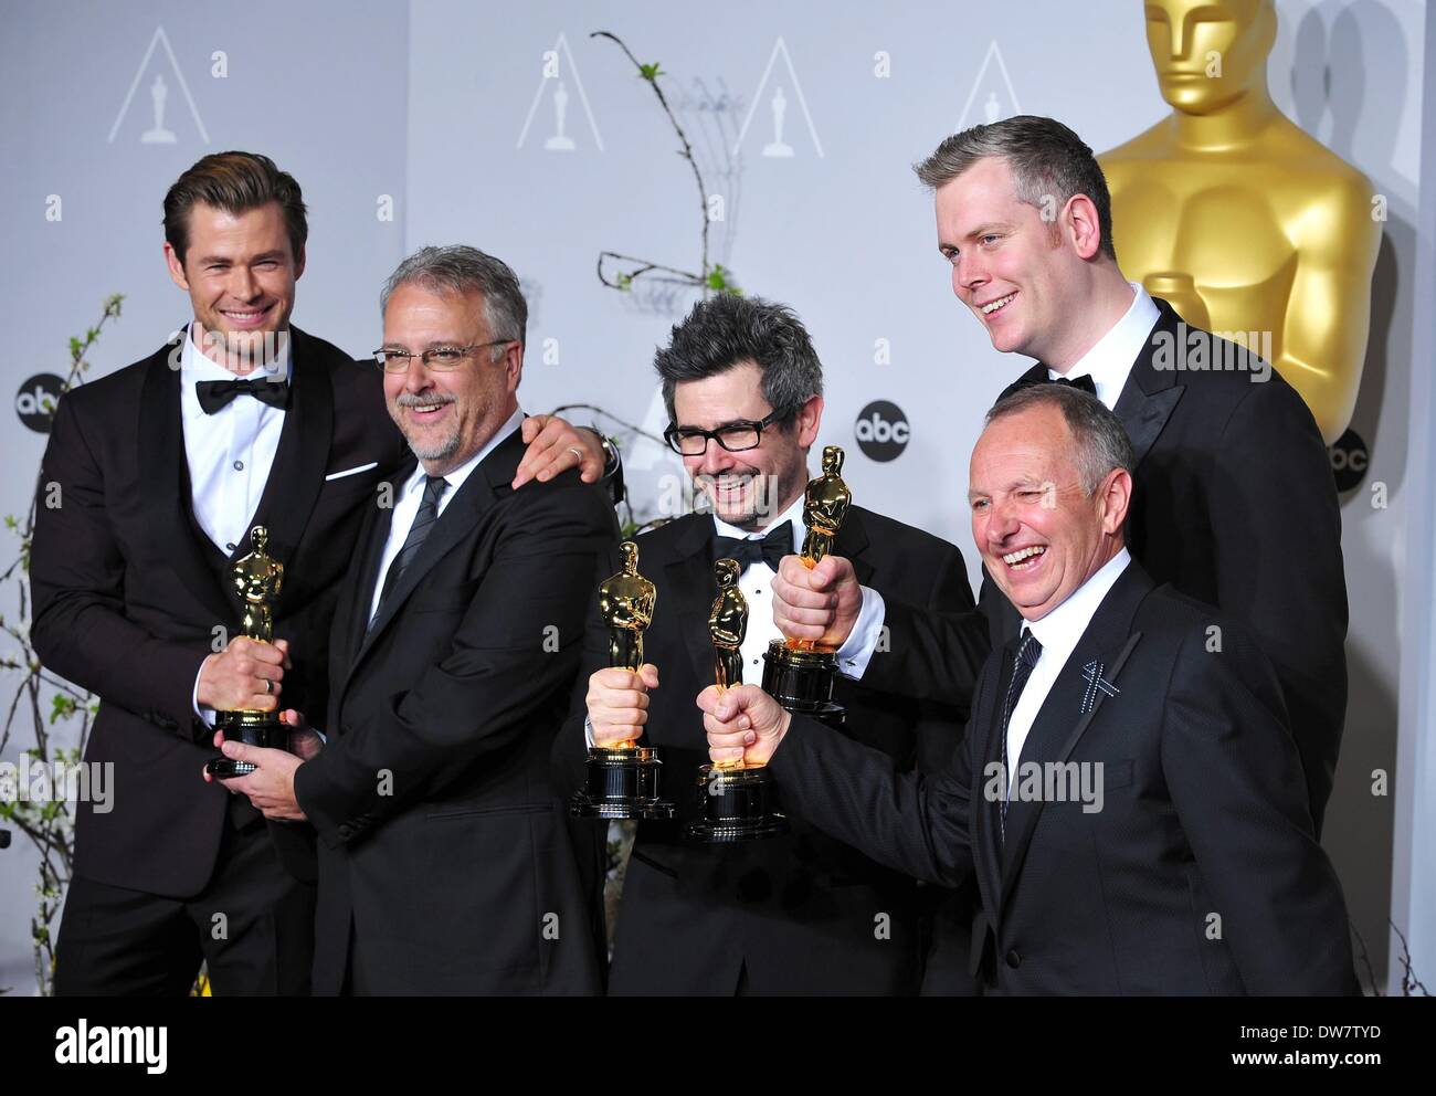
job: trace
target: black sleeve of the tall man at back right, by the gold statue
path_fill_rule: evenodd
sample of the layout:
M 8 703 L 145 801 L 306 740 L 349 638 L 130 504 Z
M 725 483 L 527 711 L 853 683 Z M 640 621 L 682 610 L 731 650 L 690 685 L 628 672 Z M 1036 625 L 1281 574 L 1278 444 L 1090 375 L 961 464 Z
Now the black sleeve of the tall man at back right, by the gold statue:
M 1256 632 L 1291 715 L 1317 833 L 1346 715 L 1346 573 L 1331 464 L 1290 385 L 1254 384 L 1216 447 L 1216 603 Z

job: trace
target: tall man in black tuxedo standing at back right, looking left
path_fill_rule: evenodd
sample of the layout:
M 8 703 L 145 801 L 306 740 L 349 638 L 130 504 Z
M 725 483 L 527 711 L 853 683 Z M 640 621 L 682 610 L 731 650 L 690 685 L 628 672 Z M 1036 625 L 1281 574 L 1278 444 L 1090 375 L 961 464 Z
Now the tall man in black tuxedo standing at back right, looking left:
M 1335 484 L 1301 395 L 1255 353 L 1190 328 L 1123 277 L 1101 168 L 1061 122 L 974 126 L 916 171 L 936 192 L 954 293 L 992 346 L 1038 359 L 1018 384 L 1081 385 L 1126 427 L 1136 452 L 1132 554 L 1156 582 L 1246 621 L 1271 658 L 1320 835 L 1346 715 L 1347 598 Z M 1173 368 L 1195 343 L 1206 363 L 1245 368 Z M 794 610 L 793 631 L 841 639 L 857 600 L 852 576 L 819 590 L 797 570 L 784 577 L 777 612 Z M 994 646 L 1015 635 L 1017 613 L 991 582 L 979 603 Z M 969 684 L 966 633 L 951 621 L 893 621 L 892 646 L 885 674 L 910 658 L 949 671 L 912 678 Z

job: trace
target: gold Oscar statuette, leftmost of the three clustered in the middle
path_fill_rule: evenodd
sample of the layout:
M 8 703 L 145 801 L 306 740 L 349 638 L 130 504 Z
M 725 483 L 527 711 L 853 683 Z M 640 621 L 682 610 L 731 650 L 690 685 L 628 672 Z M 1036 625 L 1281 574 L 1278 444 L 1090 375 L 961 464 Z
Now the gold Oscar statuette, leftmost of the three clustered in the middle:
M 609 667 L 635 674 L 643 665 L 643 632 L 653 622 L 658 588 L 638 573 L 638 544 L 619 544 L 623 570 L 599 583 L 599 615 L 609 629 Z M 583 819 L 671 819 L 673 803 L 659 797 L 662 761 L 638 738 L 589 748 L 583 789 L 569 813 Z

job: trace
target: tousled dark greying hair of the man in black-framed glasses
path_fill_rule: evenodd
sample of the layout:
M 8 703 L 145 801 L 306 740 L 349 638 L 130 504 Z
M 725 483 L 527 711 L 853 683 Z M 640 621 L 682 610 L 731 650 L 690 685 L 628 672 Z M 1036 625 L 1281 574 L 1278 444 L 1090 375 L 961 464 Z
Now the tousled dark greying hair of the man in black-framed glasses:
M 823 363 L 793 309 L 724 293 L 694 305 L 653 356 L 669 421 L 678 421 L 673 391 L 681 381 L 702 381 L 742 362 L 757 362 L 763 398 L 774 411 L 797 411 L 823 395 Z

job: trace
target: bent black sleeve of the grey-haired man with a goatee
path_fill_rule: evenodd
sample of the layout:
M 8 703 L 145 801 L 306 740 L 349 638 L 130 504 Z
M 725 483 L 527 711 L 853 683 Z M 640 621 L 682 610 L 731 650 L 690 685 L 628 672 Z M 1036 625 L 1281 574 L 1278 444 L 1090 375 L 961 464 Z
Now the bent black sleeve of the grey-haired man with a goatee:
M 566 490 L 531 484 L 513 496 L 521 513 L 485 569 L 441 659 L 395 691 L 300 766 L 300 806 L 329 845 L 353 819 L 369 823 L 441 787 L 531 734 L 579 661 L 584 595 L 595 556 L 612 539 L 613 514 L 572 474 Z M 544 488 L 549 490 L 544 490 Z M 559 651 L 544 651 L 547 626 Z M 392 779 L 382 789 L 379 773 Z

